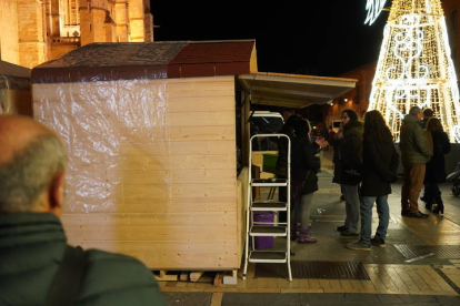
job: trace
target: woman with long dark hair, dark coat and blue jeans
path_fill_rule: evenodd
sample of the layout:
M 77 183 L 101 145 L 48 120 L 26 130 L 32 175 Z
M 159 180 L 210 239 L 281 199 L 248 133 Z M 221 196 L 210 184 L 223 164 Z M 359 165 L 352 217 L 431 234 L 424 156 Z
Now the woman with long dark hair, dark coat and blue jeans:
M 391 132 L 379 111 L 366 113 L 362 152 L 361 184 L 361 236 L 347 245 L 350 249 L 370 251 L 370 245 L 384 247 L 390 208 L 388 195 L 391 183 L 397 181 L 399 155 L 394 149 Z M 379 226 L 371 239 L 372 207 L 377 204 Z

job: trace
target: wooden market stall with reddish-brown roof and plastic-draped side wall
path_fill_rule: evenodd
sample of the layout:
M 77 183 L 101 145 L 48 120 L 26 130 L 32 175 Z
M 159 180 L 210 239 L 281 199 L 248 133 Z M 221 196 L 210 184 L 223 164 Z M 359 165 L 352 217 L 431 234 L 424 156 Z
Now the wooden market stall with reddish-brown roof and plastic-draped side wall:
M 236 100 L 270 76 L 258 75 L 253 40 L 93 43 L 34 68 L 34 116 L 69 151 L 70 244 L 152 269 L 239 268 L 248 169 L 237 177 L 236 140 L 249 103 L 237 129 Z

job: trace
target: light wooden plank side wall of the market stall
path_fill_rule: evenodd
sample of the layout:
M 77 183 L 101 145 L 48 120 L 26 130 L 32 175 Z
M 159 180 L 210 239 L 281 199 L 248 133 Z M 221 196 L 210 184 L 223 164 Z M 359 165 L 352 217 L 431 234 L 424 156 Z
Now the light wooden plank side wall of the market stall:
M 234 76 L 33 84 L 33 104 L 68 145 L 70 244 L 239 267 Z

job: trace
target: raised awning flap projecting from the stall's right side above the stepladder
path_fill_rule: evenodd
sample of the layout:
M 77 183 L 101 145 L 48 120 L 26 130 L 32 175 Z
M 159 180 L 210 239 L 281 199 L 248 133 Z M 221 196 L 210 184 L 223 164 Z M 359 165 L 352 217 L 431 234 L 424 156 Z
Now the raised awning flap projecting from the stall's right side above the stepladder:
M 313 75 L 257 72 L 237 76 L 253 103 L 301 109 L 324 104 L 352 90 L 358 80 Z

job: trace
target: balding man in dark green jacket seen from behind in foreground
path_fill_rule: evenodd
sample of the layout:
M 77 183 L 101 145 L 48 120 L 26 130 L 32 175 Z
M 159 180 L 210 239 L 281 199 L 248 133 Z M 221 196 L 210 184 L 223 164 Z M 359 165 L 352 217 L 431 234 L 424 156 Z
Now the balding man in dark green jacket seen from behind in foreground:
M 67 249 L 58 217 L 66 150 L 44 125 L 14 116 L 0 116 L 0 305 L 44 305 Z M 98 249 L 86 256 L 74 305 L 166 305 L 138 259 Z

